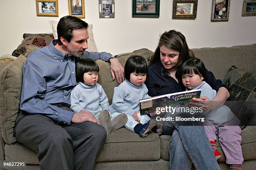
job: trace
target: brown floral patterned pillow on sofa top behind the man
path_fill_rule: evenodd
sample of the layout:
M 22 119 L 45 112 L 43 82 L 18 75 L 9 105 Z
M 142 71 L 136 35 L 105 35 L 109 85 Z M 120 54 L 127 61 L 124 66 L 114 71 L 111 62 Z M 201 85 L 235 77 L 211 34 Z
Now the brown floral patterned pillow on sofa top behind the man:
M 54 40 L 53 34 L 23 34 L 24 40 L 13 51 L 12 55 L 18 57 L 20 54 L 24 55 L 27 45 L 36 45 L 38 47 L 45 47 L 50 44 L 51 40 Z

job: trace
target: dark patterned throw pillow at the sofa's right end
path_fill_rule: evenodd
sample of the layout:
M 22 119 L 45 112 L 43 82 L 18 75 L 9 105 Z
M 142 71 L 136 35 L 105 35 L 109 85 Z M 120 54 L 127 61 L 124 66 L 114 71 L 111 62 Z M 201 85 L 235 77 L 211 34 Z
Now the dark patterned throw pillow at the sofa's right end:
M 241 125 L 256 125 L 256 73 L 230 67 L 223 79 L 229 88 L 228 105 Z

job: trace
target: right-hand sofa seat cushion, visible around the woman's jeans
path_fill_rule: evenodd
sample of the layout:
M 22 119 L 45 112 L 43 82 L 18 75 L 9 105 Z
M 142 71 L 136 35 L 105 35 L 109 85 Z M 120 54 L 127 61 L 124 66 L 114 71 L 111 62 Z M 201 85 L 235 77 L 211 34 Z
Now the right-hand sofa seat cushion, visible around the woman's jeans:
M 244 160 L 255 160 L 256 159 L 256 126 L 247 126 L 241 132 L 242 142 L 241 147 L 243 151 Z M 168 147 L 170 144 L 171 135 L 160 135 L 161 141 L 161 159 L 170 160 Z M 220 143 L 217 141 L 218 151 L 221 153 L 222 157 L 218 162 L 225 162 L 225 154 L 220 148 Z

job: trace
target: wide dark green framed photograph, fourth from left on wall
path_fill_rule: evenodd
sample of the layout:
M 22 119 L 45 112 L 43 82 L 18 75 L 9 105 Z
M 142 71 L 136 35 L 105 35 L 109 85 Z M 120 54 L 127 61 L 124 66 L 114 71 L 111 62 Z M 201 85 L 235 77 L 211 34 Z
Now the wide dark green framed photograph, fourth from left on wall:
M 159 17 L 160 0 L 133 0 L 133 17 Z

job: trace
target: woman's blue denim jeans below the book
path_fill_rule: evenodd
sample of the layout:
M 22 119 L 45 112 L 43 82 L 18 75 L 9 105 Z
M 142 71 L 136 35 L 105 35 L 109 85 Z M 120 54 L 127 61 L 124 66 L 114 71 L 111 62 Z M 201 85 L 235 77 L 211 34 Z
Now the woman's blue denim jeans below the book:
M 163 126 L 163 134 L 170 135 L 170 170 L 220 170 L 203 126 Z

